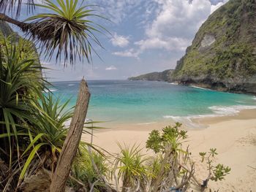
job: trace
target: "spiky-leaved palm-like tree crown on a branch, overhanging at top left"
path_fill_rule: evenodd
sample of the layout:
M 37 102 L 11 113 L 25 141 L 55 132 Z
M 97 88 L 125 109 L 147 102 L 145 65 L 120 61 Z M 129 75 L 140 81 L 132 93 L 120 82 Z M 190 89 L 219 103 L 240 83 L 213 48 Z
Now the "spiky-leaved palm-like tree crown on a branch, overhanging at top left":
M 56 3 L 43 0 L 44 4 L 35 4 L 34 0 L 27 2 L 29 9 L 43 7 L 49 13 L 34 15 L 23 22 L 18 20 L 23 0 L 0 0 L 0 20 L 18 26 L 26 37 L 39 45 L 41 51 L 45 51 L 48 58 L 52 58 L 56 50 L 56 60 L 63 56 L 64 64 L 67 61 L 75 64 L 76 58 L 80 61 L 86 58 L 90 62 L 91 50 L 94 50 L 91 42 L 102 47 L 94 33 L 106 30 L 91 20 L 91 17 L 102 17 L 94 14 L 88 5 L 83 5 L 83 1 L 82 4 L 78 0 L 58 0 Z M 6 15 L 7 11 L 16 12 L 16 18 Z

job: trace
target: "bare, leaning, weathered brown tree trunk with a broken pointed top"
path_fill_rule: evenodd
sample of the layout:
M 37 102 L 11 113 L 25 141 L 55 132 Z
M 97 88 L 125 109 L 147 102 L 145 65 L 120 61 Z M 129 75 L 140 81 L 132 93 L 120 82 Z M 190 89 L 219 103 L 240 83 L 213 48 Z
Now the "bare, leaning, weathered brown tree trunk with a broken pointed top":
M 65 190 L 67 177 L 69 176 L 72 161 L 77 153 L 83 125 L 86 120 L 90 95 L 86 81 L 82 80 L 80 82 L 80 91 L 75 106 L 75 114 L 71 120 L 69 133 L 67 134 L 61 154 L 59 155 L 59 161 L 53 174 L 52 183 L 50 184 L 51 192 L 63 192 Z

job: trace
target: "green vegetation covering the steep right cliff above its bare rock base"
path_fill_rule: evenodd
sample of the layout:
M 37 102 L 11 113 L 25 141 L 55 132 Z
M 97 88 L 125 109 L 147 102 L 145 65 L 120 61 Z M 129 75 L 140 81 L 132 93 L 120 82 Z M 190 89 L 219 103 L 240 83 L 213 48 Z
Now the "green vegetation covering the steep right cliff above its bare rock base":
M 215 11 L 197 32 L 192 46 L 176 67 L 174 76 L 184 81 L 244 80 L 256 73 L 255 1 L 229 1 Z M 203 38 L 216 41 L 201 47 Z

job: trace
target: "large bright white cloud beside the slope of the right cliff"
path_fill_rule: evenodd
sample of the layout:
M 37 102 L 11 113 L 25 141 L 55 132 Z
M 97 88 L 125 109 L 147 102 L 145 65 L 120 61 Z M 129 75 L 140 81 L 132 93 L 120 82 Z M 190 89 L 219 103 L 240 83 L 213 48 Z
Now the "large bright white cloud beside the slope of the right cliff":
M 146 38 L 138 42 L 138 53 L 149 49 L 186 50 L 195 33 L 211 12 L 225 4 L 208 0 L 154 0 L 159 4 L 156 18 L 145 28 Z

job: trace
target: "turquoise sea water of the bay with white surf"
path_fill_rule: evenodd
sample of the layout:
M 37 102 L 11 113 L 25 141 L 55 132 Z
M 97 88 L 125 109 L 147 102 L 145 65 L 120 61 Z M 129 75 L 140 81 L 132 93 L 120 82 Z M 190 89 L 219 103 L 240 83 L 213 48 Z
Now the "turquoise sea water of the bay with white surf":
M 91 80 L 87 118 L 116 123 L 151 123 L 168 118 L 233 115 L 256 108 L 253 96 L 222 93 L 168 82 Z M 75 105 L 79 82 L 53 82 L 51 91 Z

